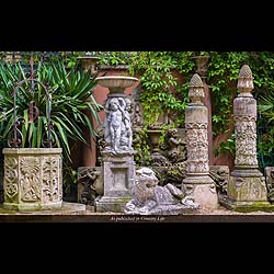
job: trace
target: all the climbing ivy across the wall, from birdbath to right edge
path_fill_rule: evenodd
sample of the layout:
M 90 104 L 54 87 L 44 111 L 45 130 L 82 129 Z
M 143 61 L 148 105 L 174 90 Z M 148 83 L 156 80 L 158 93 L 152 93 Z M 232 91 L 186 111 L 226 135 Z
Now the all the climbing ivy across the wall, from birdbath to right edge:
M 127 65 L 129 75 L 140 79 L 144 90 L 140 103 L 146 125 L 155 123 L 162 113 L 170 113 L 175 117 L 172 126 L 183 124 L 184 110 L 189 104 L 189 83 L 196 68 L 192 57 L 197 55 L 209 56 L 206 82 L 212 92 L 214 138 L 228 130 L 232 134 L 232 102 L 237 95 L 238 75 L 243 64 L 248 64 L 252 70 L 253 95 L 258 99 L 259 106 L 273 103 L 273 52 L 98 52 L 94 55 L 101 57 L 101 65 Z M 183 81 L 178 79 L 174 71 L 182 76 Z M 267 115 L 265 107 L 264 111 L 259 107 L 258 126 L 267 125 L 267 128 L 273 128 L 273 123 L 274 118 Z M 272 132 L 267 129 L 263 138 L 259 139 L 262 152 L 274 149 L 274 144 L 269 141 Z M 226 150 L 226 147 L 227 144 L 219 151 Z

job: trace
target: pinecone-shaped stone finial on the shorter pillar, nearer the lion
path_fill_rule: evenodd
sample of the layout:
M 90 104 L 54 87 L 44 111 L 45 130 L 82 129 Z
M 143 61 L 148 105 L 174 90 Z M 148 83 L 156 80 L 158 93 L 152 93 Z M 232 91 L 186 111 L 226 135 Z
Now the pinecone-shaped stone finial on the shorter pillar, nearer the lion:
M 189 88 L 191 104 L 203 104 L 202 99 L 205 96 L 204 84 L 197 73 L 192 77 Z

